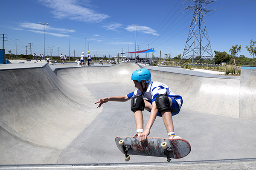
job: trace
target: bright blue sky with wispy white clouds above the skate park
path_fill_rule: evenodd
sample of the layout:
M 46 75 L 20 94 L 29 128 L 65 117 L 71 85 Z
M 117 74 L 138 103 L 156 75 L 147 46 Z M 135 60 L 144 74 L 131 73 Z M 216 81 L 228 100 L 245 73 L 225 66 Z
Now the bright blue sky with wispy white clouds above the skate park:
M 1 2 L 0 34 L 8 34 L 4 42 L 6 54 L 61 53 L 80 56 L 84 48 L 99 57 L 116 56 L 119 52 L 154 48 L 156 57 L 183 54 L 193 10 L 187 0 L 3 0 Z M 256 41 L 256 0 L 216 0 L 207 6 L 215 9 L 204 17 L 214 51 L 227 51 L 241 45 L 239 55 L 249 55 L 245 46 Z M 71 29 L 71 31 L 70 31 Z M 2 36 L 1 36 L 2 37 Z M 86 40 L 85 40 L 86 38 Z M 2 40 L 2 38 L 0 38 Z M 70 41 L 69 41 L 70 40 Z M 89 43 L 90 42 L 90 43 Z M 85 45 L 86 43 L 86 45 Z M 3 42 L 0 42 L 2 48 Z M 48 48 L 49 47 L 49 48 Z M 48 48 L 48 51 L 47 51 Z M 127 55 L 127 54 L 126 54 Z M 140 54 L 145 57 L 145 54 Z

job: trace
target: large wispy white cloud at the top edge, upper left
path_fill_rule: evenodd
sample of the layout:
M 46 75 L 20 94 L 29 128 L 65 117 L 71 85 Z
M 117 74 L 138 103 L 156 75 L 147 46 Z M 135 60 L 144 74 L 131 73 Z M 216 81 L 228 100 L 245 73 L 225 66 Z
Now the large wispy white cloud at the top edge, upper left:
M 51 8 L 52 14 L 58 19 L 77 20 L 89 23 L 99 23 L 109 16 L 100 14 L 91 8 L 79 4 L 78 0 L 38 0 L 44 6 Z

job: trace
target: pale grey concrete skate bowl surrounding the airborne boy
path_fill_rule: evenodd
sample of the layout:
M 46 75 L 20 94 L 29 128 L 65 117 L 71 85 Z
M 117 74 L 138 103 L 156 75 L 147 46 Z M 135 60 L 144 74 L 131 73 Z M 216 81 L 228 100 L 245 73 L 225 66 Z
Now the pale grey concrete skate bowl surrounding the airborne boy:
M 152 80 L 183 97 L 173 116 L 175 133 L 191 153 L 165 158 L 131 156 L 127 163 L 116 136 L 134 136 L 130 102 L 94 104 L 107 96 L 134 91 L 131 74 L 148 68 Z M 256 73 L 223 76 L 182 68 L 142 66 L 131 62 L 73 67 L 36 64 L 0 65 L 0 169 L 242 169 L 256 166 Z M 144 124 L 149 112 L 144 111 Z M 160 117 L 151 137 L 167 137 Z

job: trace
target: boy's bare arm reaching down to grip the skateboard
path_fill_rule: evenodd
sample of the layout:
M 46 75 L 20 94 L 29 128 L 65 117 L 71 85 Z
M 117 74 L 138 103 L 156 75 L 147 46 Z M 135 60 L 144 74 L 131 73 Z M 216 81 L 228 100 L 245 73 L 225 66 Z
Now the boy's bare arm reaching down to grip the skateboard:
M 152 103 L 152 109 L 151 109 L 151 113 L 150 113 L 150 116 L 149 116 L 149 119 L 148 119 L 148 123 L 145 127 L 145 130 L 143 133 L 140 134 L 140 142 L 143 142 L 147 139 L 147 136 L 149 135 L 150 133 L 150 129 L 157 117 L 157 105 L 156 105 L 156 102 L 154 101 Z

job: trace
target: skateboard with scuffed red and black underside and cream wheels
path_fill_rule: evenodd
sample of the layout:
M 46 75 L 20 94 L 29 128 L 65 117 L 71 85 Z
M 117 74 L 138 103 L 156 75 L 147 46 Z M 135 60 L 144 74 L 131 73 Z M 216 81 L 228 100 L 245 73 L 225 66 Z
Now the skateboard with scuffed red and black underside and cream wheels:
M 167 139 L 148 137 L 147 142 L 140 142 L 139 137 L 116 137 L 118 149 L 125 154 L 125 161 L 130 155 L 166 157 L 167 161 L 180 159 L 191 151 L 189 142 L 184 139 Z

